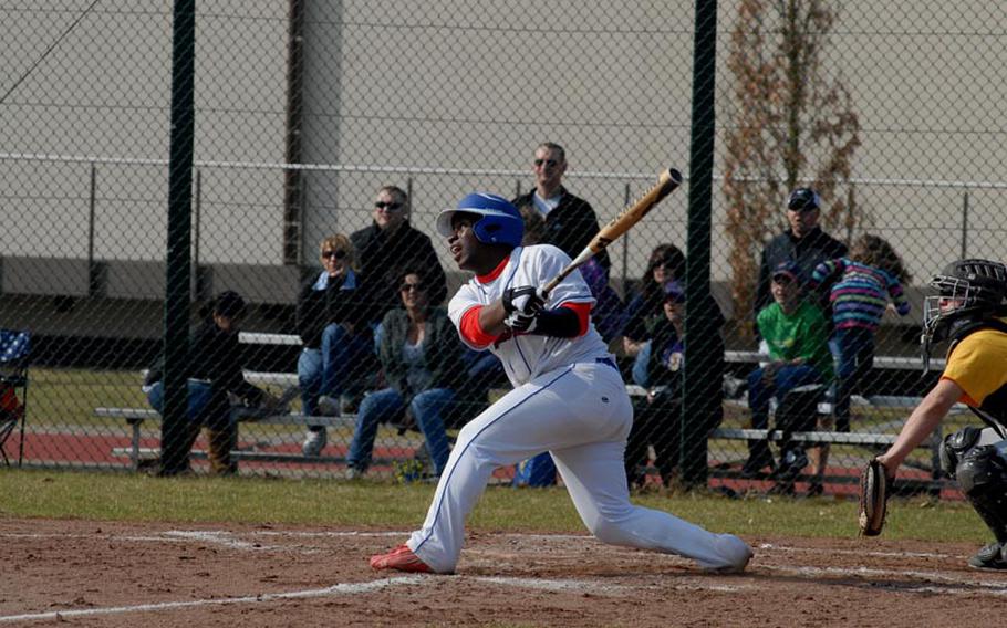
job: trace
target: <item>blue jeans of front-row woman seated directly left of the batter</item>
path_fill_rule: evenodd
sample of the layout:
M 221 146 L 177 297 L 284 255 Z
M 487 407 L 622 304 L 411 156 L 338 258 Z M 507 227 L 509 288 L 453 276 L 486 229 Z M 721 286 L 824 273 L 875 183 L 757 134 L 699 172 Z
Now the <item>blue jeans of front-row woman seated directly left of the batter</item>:
M 409 404 L 409 412 L 426 438 L 426 446 L 434 461 L 434 473 L 437 475 L 444 471 L 450 453 L 447 433 L 444 430 L 444 414 L 454 400 L 455 391 L 450 388 L 432 388 L 417 394 Z M 403 410 L 405 400 L 394 388 L 383 388 L 364 397 L 356 416 L 356 430 L 353 432 L 353 442 L 350 444 L 350 456 L 346 460 L 350 467 L 366 470 L 374 452 L 377 426 L 394 420 Z

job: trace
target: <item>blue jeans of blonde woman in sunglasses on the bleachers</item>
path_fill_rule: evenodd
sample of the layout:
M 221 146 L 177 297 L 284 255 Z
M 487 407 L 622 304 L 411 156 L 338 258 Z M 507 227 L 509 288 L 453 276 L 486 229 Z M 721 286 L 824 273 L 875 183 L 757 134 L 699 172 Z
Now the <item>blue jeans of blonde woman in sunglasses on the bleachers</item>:
M 342 325 L 332 323 L 322 332 L 322 347 L 304 348 L 298 358 L 298 384 L 301 388 L 301 411 L 309 416 L 318 414 L 319 395 L 339 397 L 351 384 L 363 380 L 368 374 L 361 373 L 364 359 L 374 353 L 366 336 L 347 332 Z

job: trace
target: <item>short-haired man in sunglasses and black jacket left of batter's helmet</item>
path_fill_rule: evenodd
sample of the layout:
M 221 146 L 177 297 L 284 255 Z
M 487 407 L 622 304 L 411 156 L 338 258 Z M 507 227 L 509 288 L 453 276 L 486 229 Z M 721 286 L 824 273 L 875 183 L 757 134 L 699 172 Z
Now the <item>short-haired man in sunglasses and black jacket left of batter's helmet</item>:
M 350 240 L 356 248 L 361 274 L 367 278 L 371 308 L 368 321 L 376 324 L 385 312 L 402 306 L 396 294 L 406 269 L 421 269 L 432 305 L 447 296 L 444 269 L 430 239 L 409 224 L 409 197 L 402 188 L 384 186 L 374 201 L 374 222 L 355 231 Z

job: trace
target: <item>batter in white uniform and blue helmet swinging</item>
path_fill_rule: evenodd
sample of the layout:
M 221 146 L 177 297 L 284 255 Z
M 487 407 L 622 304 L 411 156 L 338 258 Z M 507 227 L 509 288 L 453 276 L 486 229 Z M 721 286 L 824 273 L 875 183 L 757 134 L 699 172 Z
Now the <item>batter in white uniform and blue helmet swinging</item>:
M 548 244 L 520 247 L 521 217 L 496 195 L 468 195 L 440 212 L 437 230 L 458 268 L 476 273 L 451 299 L 451 321 L 466 344 L 500 358 L 515 389 L 461 429 L 423 527 L 373 556 L 371 566 L 454 572 L 465 517 L 492 471 L 549 451 L 599 540 L 679 554 L 706 569 L 743 571 L 752 554 L 737 536 L 630 503 L 623 453 L 633 410 L 591 324 L 591 292 L 577 272 L 548 300 L 538 290 L 570 258 Z

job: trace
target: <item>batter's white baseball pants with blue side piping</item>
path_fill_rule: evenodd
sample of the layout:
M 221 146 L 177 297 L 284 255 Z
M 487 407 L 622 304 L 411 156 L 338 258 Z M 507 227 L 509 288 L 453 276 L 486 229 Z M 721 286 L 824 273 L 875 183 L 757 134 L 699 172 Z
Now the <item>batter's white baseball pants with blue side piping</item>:
M 611 359 L 574 364 L 511 390 L 461 429 L 423 527 L 409 548 L 435 572 L 455 571 L 465 519 L 498 467 L 549 451 L 588 530 L 604 543 L 744 566 L 749 550 L 668 513 L 630 503 L 623 456 L 633 409 Z

